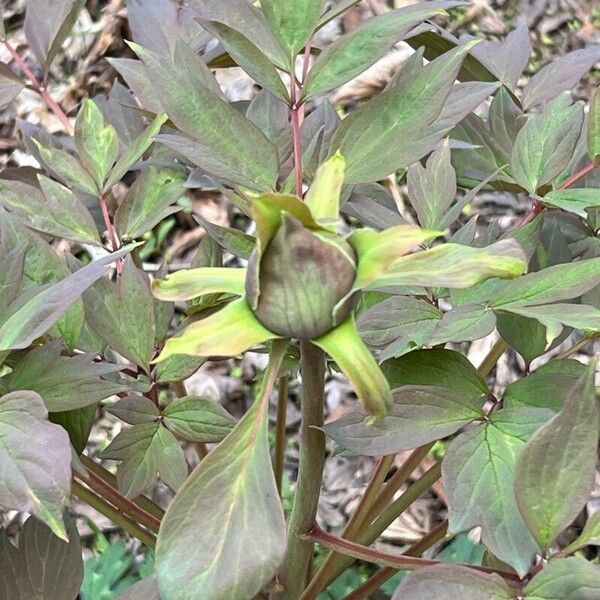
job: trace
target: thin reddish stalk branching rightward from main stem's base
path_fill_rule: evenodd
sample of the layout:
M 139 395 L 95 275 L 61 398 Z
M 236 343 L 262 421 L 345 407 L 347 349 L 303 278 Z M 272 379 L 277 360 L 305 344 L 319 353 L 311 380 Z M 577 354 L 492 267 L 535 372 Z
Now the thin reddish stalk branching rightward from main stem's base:
M 342 538 L 336 537 L 335 535 L 326 533 L 317 526 L 315 526 L 310 533 L 305 534 L 302 537 L 306 540 L 310 540 L 311 542 L 318 543 L 321 546 L 325 546 L 326 548 L 335 550 L 336 552 L 340 552 L 347 556 L 351 556 L 352 558 L 365 560 L 367 562 L 376 563 L 384 565 L 386 567 L 392 567 L 394 569 L 404 571 L 415 571 L 416 569 L 422 569 L 424 567 L 432 567 L 434 565 L 447 564 L 439 560 L 416 558 L 412 556 L 405 556 L 402 554 L 388 554 L 387 552 L 382 552 L 381 550 L 376 550 L 374 548 L 369 548 L 368 546 L 363 546 L 355 542 L 343 540 Z M 518 575 L 516 575 L 515 573 L 510 573 L 508 571 L 498 571 L 489 567 L 478 567 L 473 565 L 460 566 L 468 567 L 470 569 L 474 569 L 482 573 L 495 573 L 496 575 L 500 575 L 501 577 L 509 581 L 521 581 Z

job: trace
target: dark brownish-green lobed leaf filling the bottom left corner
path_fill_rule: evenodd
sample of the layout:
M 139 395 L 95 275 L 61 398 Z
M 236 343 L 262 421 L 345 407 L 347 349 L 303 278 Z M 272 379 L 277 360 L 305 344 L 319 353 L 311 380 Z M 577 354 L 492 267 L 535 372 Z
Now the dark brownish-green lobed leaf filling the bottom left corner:
M 65 518 L 69 542 L 29 517 L 19 547 L 0 532 L 0 595 L 5 600 L 73 600 L 83 579 L 81 542 L 75 521 Z

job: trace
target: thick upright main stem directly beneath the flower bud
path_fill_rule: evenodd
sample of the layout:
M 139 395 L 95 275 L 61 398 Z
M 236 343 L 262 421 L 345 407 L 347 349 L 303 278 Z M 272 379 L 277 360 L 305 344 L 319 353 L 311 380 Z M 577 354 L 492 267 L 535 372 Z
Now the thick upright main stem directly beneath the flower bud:
M 277 582 L 283 590 L 273 590 L 271 600 L 298 600 L 304 589 L 314 544 L 300 536 L 310 531 L 314 525 L 325 464 L 325 435 L 322 431 L 325 354 L 306 340 L 300 342 L 300 369 L 300 466 L 288 525 L 287 551 L 277 575 Z

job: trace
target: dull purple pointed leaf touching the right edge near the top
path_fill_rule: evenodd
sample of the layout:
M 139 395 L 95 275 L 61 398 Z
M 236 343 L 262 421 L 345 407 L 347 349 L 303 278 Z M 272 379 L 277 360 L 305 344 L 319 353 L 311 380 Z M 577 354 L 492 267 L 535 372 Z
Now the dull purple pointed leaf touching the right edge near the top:
M 569 52 L 540 69 L 523 88 L 523 109 L 544 104 L 565 90 L 575 88 L 579 80 L 600 60 L 600 49 L 585 48 Z

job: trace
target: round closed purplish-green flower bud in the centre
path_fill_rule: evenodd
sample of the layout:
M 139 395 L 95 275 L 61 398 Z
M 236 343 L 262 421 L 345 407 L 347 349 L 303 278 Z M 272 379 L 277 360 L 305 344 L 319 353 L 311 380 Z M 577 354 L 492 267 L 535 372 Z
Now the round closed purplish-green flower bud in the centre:
M 315 339 L 341 323 L 353 299 L 356 256 L 341 237 L 311 231 L 287 212 L 264 251 L 250 259 L 246 295 L 256 318 L 270 331 Z

